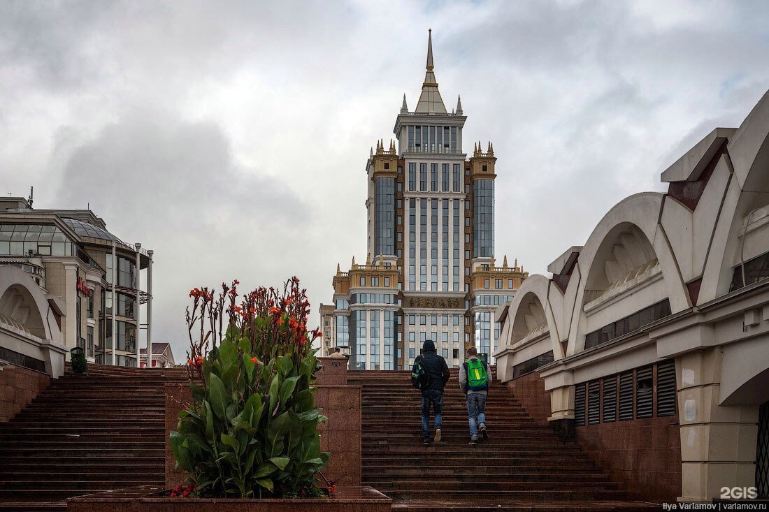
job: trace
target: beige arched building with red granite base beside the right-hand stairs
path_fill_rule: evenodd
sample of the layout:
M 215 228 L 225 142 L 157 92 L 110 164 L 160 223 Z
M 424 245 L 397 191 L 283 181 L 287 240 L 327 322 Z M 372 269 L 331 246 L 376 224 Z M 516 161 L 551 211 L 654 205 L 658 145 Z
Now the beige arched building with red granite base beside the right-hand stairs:
M 498 376 L 540 379 L 551 424 L 662 495 L 769 497 L 769 93 L 661 181 L 667 193 L 620 201 L 498 308 Z

